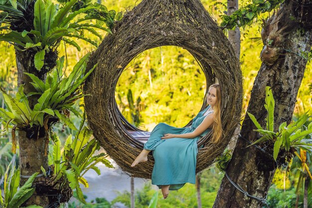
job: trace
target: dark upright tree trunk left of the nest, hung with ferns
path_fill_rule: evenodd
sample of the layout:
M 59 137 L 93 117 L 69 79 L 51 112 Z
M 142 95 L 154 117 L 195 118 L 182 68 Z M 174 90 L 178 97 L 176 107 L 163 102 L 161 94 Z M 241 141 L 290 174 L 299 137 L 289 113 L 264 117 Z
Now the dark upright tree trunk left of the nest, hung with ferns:
M 19 32 L 26 29 L 29 31 L 33 29 L 33 6 L 32 2 L 28 10 L 25 12 L 27 21 L 20 21 L 11 25 L 11 29 Z M 29 20 L 29 21 L 28 21 Z M 26 50 L 18 51 L 15 50 L 16 55 L 16 66 L 17 66 L 17 85 L 18 87 L 24 84 L 24 93 L 35 91 L 34 87 L 30 84 L 31 79 L 24 72 L 32 73 L 39 77 L 41 80 L 45 80 L 46 72 L 52 69 L 56 65 L 57 53 L 50 51 L 45 55 L 45 64 L 41 71 L 38 71 L 34 66 L 34 55 L 35 51 Z M 47 59 L 48 57 L 48 59 Z M 33 109 L 34 105 L 38 102 L 38 96 L 28 97 L 29 106 Z M 19 167 L 20 175 L 31 176 L 32 174 L 39 172 L 41 174 L 41 166 L 48 170 L 48 130 L 44 127 L 33 125 L 27 128 L 21 129 L 17 132 L 18 144 L 19 144 Z M 27 178 L 20 179 L 20 186 L 27 181 Z M 38 177 L 33 182 L 35 187 L 35 193 L 32 197 L 26 201 L 23 206 L 28 205 L 39 205 L 45 207 L 51 203 L 51 197 L 47 196 L 47 192 L 44 189 L 44 177 Z

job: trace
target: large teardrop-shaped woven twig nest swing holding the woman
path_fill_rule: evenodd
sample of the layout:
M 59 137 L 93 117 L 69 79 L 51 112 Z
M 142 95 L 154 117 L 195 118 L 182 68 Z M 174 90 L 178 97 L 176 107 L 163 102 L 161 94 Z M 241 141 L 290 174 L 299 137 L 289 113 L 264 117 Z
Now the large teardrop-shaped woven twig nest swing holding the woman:
M 207 88 L 221 84 L 224 137 L 218 144 L 208 134 L 198 146 L 196 173 L 210 166 L 226 148 L 240 120 L 242 110 L 242 73 L 228 39 L 199 0 L 143 0 L 128 11 L 93 52 L 88 69 L 97 68 L 85 83 L 88 123 L 94 137 L 110 157 L 130 176 L 151 179 L 154 159 L 131 168 L 143 149 L 143 142 L 129 133 L 141 131 L 129 124 L 115 100 L 115 87 L 124 68 L 145 50 L 174 45 L 188 50 L 201 66 Z M 191 77 L 190 77 L 191 78 Z M 206 92 L 208 89 L 206 90 Z M 203 99 L 205 100 L 205 98 Z M 207 106 L 203 102 L 202 109 Z M 191 125 L 191 121 L 186 125 Z

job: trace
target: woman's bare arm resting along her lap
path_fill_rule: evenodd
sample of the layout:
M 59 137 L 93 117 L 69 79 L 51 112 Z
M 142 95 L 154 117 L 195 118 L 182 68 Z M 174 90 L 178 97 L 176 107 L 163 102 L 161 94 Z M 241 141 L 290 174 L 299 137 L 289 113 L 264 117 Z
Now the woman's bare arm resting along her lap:
M 199 136 L 201 133 L 203 133 L 206 129 L 208 129 L 212 123 L 213 123 L 213 113 L 210 113 L 204 118 L 201 124 L 193 132 L 186 134 L 164 134 L 163 137 L 161 137 L 161 139 L 170 139 L 174 137 L 186 139 L 195 138 Z

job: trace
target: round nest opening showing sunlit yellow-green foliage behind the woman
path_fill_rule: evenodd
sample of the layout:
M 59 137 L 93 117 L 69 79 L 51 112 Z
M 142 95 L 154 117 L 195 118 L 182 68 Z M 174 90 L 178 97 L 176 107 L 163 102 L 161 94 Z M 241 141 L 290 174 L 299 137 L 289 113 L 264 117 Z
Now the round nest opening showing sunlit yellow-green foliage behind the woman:
M 152 131 L 161 122 L 185 126 L 202 107 L 205 92 L 205 75 L 194 57 L 181 47 L 162 46 L 125 67 L 115 100 L 129 123 Z

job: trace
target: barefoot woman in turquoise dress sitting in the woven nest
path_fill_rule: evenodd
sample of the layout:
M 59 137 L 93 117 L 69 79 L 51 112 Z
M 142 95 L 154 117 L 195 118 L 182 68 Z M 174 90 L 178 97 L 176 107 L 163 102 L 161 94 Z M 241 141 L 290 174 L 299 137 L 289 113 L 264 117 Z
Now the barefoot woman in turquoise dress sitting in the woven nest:
M 161 188 L 164 199 L 169 190 L 180 189 L 185 183 L 195 184 L 197 141 L 211 129 L 211 142 L 217 143 L 221 139 L 219 84 L 209 87 L 207 104 L 208 107 L 198 113 L 190 127 L 175 128 L 165 123 L 156 125 L 144 144 L 144 150 L 131 165 L 135 167 L 140 162 L 148 161 L 148 154 L 153 150 L 152 184 Z

